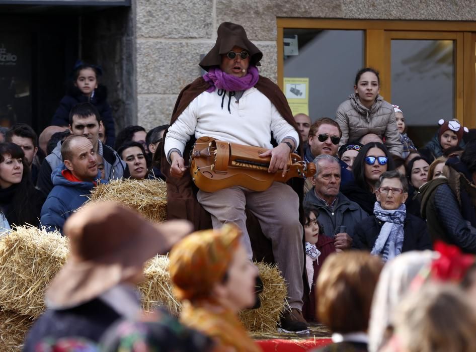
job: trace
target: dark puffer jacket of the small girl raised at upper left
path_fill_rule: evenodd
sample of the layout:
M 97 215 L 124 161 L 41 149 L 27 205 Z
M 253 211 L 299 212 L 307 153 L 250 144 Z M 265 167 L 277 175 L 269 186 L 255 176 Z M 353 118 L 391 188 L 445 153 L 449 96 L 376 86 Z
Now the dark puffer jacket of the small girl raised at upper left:
M 98 109 L 99 114 L 101 115 L 104 127 L 106 128 L 106 145 L 111 148 L 114 147 L 116 127 L 114 125 L 111 107 L 107 102 L 107 88 L 102 84 L 98 85 L 97 89 L 94 91 L 94 97 L 91 99 L 85 97 L 76 86 L 69 87 L 66 95 L 61 99 L 59 107 L 53 115 L 51 125 L 68 126 L 69 112 L 72 107 L 76 104 L 86 103 L 88 101 Z

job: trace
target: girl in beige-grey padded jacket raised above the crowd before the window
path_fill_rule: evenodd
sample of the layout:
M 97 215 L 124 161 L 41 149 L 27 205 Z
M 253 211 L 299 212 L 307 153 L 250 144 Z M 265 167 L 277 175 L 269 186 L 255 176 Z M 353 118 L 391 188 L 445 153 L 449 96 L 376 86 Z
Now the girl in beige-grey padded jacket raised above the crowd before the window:
M 401 155 L 403 147 L 393 106 L 384 101 L 379 92 L 378 71 L 369 67 L 359 70 L 355 77 L 354 94 L 337 108 L 336 121 L 342 130 L 340 143 L 343 145 L 349 140 L 374 133 L 382 140 L 385 138 L 385 145 L 391 154 Z

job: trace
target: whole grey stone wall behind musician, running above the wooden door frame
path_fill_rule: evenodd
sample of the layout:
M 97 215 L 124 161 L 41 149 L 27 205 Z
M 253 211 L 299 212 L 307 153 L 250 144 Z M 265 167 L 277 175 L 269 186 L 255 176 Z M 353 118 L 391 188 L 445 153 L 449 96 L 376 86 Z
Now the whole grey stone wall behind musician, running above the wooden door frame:
M 182 87 L 200 74 L 200 55 L 224 21 L 242 24 L 276 81 L 276 18 L 476 21 L 474 0 L 137 0 L 137 121 L 168 123 Z

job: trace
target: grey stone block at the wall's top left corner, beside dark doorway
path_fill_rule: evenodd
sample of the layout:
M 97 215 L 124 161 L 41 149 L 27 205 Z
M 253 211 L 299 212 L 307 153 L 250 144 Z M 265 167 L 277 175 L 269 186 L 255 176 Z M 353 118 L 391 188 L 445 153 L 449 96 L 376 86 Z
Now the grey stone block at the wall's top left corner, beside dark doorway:
M 213 0 L 138 0 L 137 36 L 211 38 Z

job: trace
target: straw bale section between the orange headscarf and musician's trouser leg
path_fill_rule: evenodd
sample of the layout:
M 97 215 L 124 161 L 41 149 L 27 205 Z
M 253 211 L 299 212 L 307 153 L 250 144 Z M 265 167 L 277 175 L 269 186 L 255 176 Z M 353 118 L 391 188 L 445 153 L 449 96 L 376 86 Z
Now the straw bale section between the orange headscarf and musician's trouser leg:
M 263 281 L 263 292 L 260 294 L 261 307 L 247 309 L 240 313 L 240 319 L 248 331 L 274 333 L 284 312 L 287 289 L 281 272 L 274 265 L 264 262 L 255 263 Z

